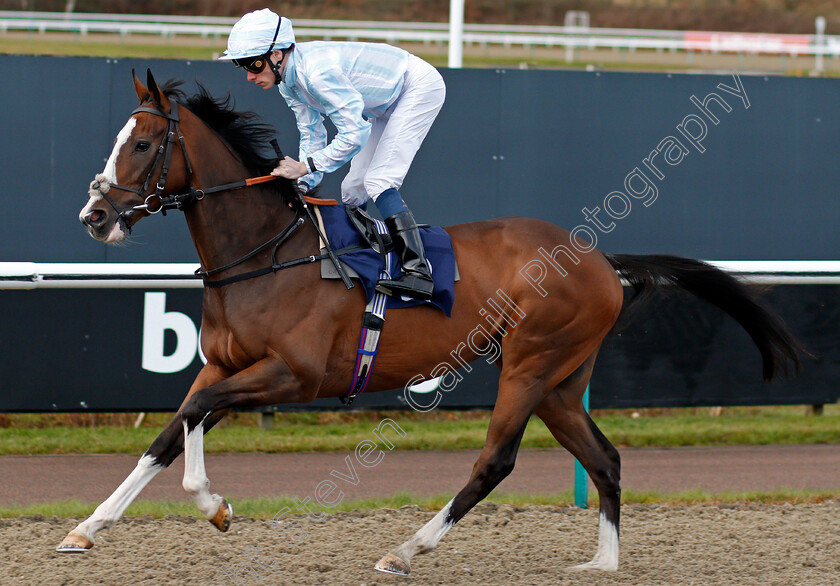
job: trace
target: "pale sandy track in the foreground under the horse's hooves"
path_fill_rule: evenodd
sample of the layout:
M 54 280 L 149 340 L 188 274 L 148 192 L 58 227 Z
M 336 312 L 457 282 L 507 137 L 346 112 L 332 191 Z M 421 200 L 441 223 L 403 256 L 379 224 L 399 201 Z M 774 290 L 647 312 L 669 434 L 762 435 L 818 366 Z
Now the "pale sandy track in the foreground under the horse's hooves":
M 416 507 L 339 513 L 279 535 L 235 518 L 218 533 L 195 518 L 124 519 L 88 554 L 53 551 L 77 520 L 0 520 L 2 584 L 836 584 L 840 502 L 622 508 L 614 574 L 569 572 L 597 542 L 597 511 L 481 504 L 410 578 L 373 570 L 433 513 Z M 303 523 L 299 526 L 302 530 Z

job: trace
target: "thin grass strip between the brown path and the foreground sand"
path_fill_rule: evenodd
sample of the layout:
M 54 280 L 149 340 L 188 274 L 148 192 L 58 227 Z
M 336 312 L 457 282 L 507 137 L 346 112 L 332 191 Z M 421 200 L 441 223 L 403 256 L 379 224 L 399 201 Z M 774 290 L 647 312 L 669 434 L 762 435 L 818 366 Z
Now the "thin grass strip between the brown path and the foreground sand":
M 374 510 L 374 509 L 398 509 L 404 506 L 417 506 L 423 510 L 440 510 L 452 498 L 452 495 L 438 495 L 433 497 L 413 497 L 409 493 L 398 493 L 385 498 L 371 498 L 340 503 L 331 509 L 325 509 L 317 505 L 308 505 L 312 511 L 323 511 L 326 513 Z M 759 504 L 781 504 L 781 503 L 819 503 L 838 498 L 837 493 L 829 491 L 813 490 L 785 490 L 773 492 L 724 492 L 712 494 L 700 490 L 680 493 L 663 492 L 633 492 L 624 491 L 621 502 L 628 504 L 662 504 L 671 506 L 687 505 L 747 505 L 748 503 Z M 247 517 L 251 519 L 272 519 L 275 515 L 288 507 L 296 511 L 293 497 L 260 498 L 260 499 L 230 499 L 234 507 L 235 517 Z M 572 491 L 564 491 L 557 494 L 506 494 L 492 493 L 484 501 L 499 505 L 546 505 L 546 506 L 572 506 L 574 495 Z M 0 507 L 0 518 L 14 518 L 20 516 L 41 515 L 44 517 L 87 517 L 96 508 L 98 503 L 82 503 L 77 500 L 60 501 L 55 503 L 42 503 L 27 506 L 5 506 Z M 592 492 L 589 495 L 589 506 L 598 506 L 598 494 Z M 127 510 L 127 517 L 152 517 L 160 519 L 167 515 L 181 517 L 196 517 L 195 505 L 188 501 L 135 501 Z

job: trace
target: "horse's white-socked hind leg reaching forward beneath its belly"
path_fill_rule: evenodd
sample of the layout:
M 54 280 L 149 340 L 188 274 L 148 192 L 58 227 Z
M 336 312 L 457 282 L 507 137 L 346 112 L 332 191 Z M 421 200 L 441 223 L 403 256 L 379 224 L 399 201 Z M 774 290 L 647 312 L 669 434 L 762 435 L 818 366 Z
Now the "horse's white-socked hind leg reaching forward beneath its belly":
M 484 449 L 467 485 L 414 536 L 374 566 L 381 572 L 407 575 L 411 558 L 432 551 L 449 529 L 511 473 L 528 419 L 545 391 L 538 378 L 511 380 L 504 372 L 499 398 L 490 418 Z

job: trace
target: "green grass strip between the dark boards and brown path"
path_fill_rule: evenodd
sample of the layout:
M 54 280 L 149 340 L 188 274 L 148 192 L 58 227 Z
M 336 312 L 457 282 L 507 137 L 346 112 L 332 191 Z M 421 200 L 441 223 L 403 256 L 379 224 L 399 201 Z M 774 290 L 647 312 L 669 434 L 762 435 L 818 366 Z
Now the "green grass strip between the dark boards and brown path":
M 595 422 L 617 447 L 675 447 L 840 442 L 840 405 L 827 405 L 821 416 L 806 408 L 726 408 L 720 416 L 706 409 L 607 411 L 594 413 Z M 72 423 L 76 418 L 75 425 Z M 136 454 L 143 453 L 171 415 L 150 416 L 147 425 L 79 426 L 85 416 L 4 415 L 0 418 L 0 455 L 18 454 Z M 93 416 L 86 416 L 93 418 Z M 375 439 L 373 429 L 392 418 L 405 431 L 402 450 L 480 449 L 489 423 L 487 412 L 417 414 L 302 413 L 278 414 L 274 428 L 256 426 L 254 414 L 237 414 L 232 424 L 211 430 L 207 453 L 348 451 L 362 440 Z M 95 419 L 91 419 L 95 421 Z M 545 425 L 532 419 L 523 448 L 554 448 L 558 444 Z

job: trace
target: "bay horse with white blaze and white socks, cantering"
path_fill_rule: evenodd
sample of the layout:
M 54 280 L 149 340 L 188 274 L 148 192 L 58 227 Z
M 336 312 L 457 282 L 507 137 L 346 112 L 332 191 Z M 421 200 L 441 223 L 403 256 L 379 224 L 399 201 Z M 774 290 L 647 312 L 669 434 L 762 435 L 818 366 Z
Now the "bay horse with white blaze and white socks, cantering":
M 183 208 L 201 266 L 208 271 L 201 324 L 207 364 L 172 422 L 116 491 L 67 535 L 58 547 L 62 552 L 90 550 L 95 534 L 116 522 L 181 451 L 184 489 L 204 517 L 226 531 L 232 509 L 209 490 L 203 434 L 230 409 L 343 396 L 365 305 L 359 287 L 348 291 L 340 281 L 322 280 L 318 263 L 213 286 L 219 279 L 258 273 L 279 259 L 317 255 L 316 229 L 301 214 L 289 181 L 231 187 L 274 166 L 259 146 L 273 130 L 255 114 L 236 111 L 229 98 L 214 99 L 200 86 L 187 99 L 177 83 L 159 87 L 151 72 L 146 85 L 136 76 L 134 85 L 140 105 L 117 135 L 105 170 L 91 184 L 80 219 L 93 238 L 113 243 L 124 240 L 133 225 L 164 202 Z M 301 228 L 291 234 L 295 223 Z M 375 568 L 406 575 L 414 555 L 434 549 L 513 470 L 525 427 L 535 414 L 583 464 L 598 490 L 597 552 L 575 568 L 614 571 L 620 459 L 587 414 L 582 396 L 598 350 L 625 305 L 621 278 L 642 293 L 675 285 L 728 313 L 757 345 L 765 379 L 791 365 L 799 368 L 798 343 L 745 285 L 701 261 L 605 254 L 536 219 L 505 218 L 446 230 L 460 271 L 451 317 L 428 306 L 392 310 L 367 392 L 401 388 L 417 373 L 451 364 L 455 354 L 464 363 L 479 358 L 483 348 L 464 340 L 481 324 L 501 348 L 498 396 L 486 443 L 464 488 Z M 563 266 L 537 288 L 522 270 L 539 258 L 539 251 L 551 251 Z M 516 315 L 484 310 L 497 292 L 504 293 Z

